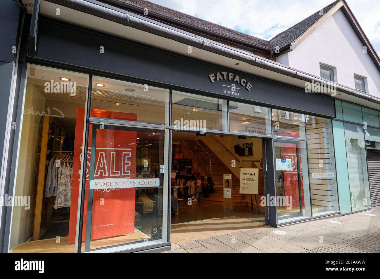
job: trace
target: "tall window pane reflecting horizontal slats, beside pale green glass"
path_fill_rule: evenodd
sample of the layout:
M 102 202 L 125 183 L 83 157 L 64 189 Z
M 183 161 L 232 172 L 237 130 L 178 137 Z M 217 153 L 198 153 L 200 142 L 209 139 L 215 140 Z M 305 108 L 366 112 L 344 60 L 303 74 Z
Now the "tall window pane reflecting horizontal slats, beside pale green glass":
M 306 115 L 313 216 L 338 210 L 331 120 Z

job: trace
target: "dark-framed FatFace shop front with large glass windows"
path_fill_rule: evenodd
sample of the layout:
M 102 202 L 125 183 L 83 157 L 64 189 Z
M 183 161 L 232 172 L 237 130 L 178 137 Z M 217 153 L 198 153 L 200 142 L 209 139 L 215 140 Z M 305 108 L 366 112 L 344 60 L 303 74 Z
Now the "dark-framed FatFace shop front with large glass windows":
M 339 214 L 334 99 L 43 17 L 21 53 L 9 196 L 30 204 L 7 211 L 5 252 L 168 249 L 184 131 L 259 142 L 264 223 Z

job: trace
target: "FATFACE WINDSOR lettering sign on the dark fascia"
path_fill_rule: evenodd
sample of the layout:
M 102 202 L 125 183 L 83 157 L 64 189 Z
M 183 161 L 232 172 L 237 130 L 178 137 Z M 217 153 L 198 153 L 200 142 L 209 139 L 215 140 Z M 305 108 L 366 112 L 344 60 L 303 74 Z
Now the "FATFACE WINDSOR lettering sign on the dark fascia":
M 228 72 L 218 72 L 218 73 L 212 73 L 209 74 L 209 79 L 211 83 L 219 80 L 223 80 L 226 82 L 226 84 L 222 84 L 222 86 L 225 87 L 223 89 L 223 93 L 229 94 L 229 95 L 235 95 L 240 96 L 240 92 L 236 90 L 241 90 L 242 88 L 239 88 L 237 86 L 242 86 L 247 91 L 250 91 L 252 88 L 252 84 L 250 84 L 246 79 L 239 77 L 239 75 L 234 73 L 228 73 Z M 237 84 L 237 86 L 236 86 Z

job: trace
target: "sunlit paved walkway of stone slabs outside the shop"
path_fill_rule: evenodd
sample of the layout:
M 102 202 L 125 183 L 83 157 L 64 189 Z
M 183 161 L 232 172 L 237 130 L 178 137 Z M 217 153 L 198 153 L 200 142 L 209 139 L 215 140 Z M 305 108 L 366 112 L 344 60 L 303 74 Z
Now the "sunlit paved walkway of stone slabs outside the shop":
M 163 253 L 379 253 L 380 206 L 285 227 L 264 226 L 171 245 Z

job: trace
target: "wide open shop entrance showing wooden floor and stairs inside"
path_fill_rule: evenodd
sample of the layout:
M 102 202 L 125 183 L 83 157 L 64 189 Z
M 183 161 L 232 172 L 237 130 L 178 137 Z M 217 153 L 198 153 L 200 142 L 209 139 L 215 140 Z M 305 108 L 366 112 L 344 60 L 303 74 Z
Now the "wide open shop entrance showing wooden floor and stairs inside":
M 260 137 L 173 131 L 172 243 L 264 225 L 264 159 Z M 258 205 L 254 195 L 251 202 L 250 195 L 240 194 L 242 169 L 258 170 Z M 230 213 L 223 210 L 225 174 L 231 174 Z

